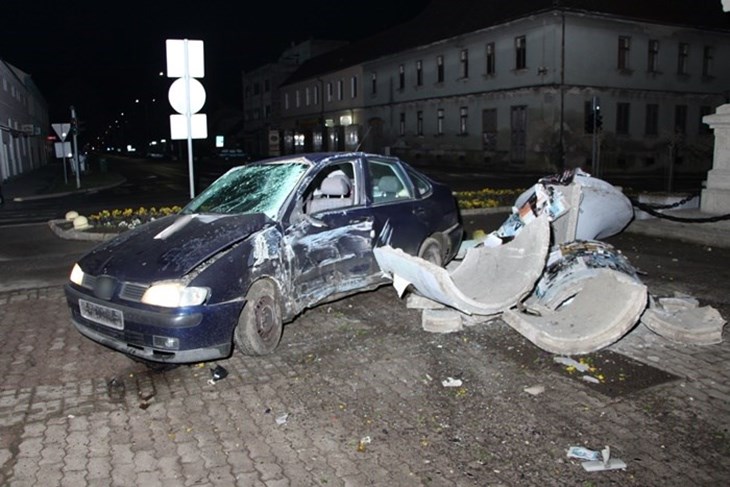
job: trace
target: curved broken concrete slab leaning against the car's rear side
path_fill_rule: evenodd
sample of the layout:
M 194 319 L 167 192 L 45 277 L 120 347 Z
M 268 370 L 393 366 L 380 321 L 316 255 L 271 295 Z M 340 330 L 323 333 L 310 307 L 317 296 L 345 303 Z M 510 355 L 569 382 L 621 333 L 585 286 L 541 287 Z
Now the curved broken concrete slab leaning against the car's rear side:
M 422 296 L 464 313 L 495 315 L 532 291 L 549 246 L 550 224 L 547 215 L 541 215 L 504 245 L 469 249 L 453 271 L 389 246 L 373 252 L 400 296 L 412 285 Z

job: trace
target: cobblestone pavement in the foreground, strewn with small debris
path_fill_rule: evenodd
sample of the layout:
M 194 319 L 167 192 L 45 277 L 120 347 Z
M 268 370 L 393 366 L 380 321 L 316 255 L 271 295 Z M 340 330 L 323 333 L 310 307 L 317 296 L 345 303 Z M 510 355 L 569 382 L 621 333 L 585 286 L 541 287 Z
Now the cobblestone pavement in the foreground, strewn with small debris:
M 210 383 L 214 364 L 151 371 L 86 340 L 61 287 L 1 293 L 0 304 L 0 485 L 730 479 L 727 336 L 688 347 L 639 327 L 592 358 L 606 366 L 593 384 L 499 320 L 427 333 L 384 287 L 306 312 L 274 355 L 234 354 Z M 657 372 L 673 376 L 641 384 Z M 444 387 L 449 377 L 463 385 Z M 625 392 L 608 393 L 610 382 Z M 525 392 L 536 385 L 545 391 Z M 586 472 L 566 456 L 573 445 L 610 445 L 628 468 Z

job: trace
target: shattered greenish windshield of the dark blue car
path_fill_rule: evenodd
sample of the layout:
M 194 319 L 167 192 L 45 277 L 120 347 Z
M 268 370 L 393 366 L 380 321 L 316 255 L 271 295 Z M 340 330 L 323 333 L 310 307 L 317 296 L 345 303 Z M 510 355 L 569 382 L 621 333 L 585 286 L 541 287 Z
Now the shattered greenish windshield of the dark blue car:
M 275 218 L 306 170 L 307 165 L 301 162 L 231 169 L 188 203 L 182 213 L 264 213 Z

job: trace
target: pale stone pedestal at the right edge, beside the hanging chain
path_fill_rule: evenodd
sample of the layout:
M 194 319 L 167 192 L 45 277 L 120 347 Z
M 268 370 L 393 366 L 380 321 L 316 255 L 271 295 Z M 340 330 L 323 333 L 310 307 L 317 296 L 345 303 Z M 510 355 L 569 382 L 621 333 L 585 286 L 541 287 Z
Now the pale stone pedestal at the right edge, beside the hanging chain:
M 705 213 L 730 213 L 730 104 L 721 105 L 712 115 L 702 117 L 715 132 L 715 152 L 707 184 L 702 190 L 700 209 Z

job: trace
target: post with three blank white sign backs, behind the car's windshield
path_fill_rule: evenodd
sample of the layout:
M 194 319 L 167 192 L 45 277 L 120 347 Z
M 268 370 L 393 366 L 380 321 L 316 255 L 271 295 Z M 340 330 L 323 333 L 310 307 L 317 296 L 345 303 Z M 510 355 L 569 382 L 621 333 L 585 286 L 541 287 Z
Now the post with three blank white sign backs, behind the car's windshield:
M 178 78 L 170 86 L 168 99 L 179 115 L 170 115 L 170 138 L 188 141 L 190 198 L 195 197 L 193 139 L 208 138 L 205 114 L 197 114 L 205 104 L 205 88 L 195 78 L 205 76 L 203 41 L 167 39 L 167 77 Z

